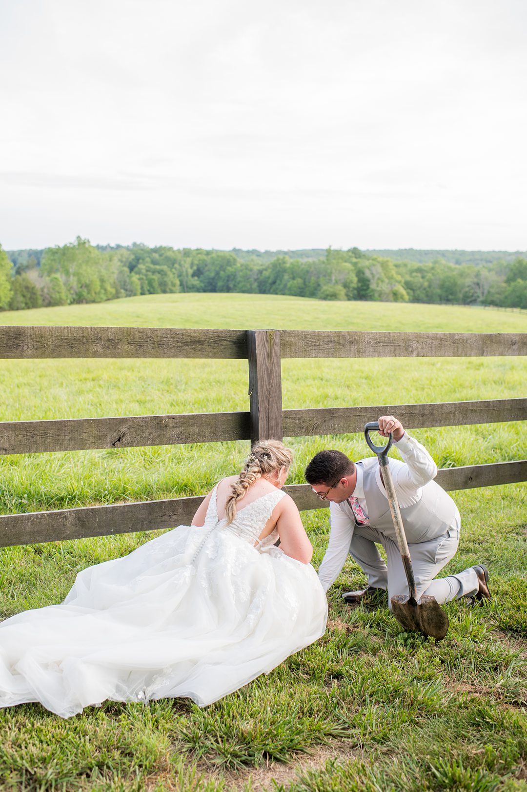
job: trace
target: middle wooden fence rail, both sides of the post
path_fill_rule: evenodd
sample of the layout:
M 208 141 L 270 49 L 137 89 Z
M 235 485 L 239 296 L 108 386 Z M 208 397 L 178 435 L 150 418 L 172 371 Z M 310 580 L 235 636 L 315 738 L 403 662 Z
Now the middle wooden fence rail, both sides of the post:
M 283 432 L 285 437 L 351 434 L 362 432 L 365 423 L 376 421 L 380 415 L 396 415 L 409 429 L 524 421 L 527 419 L 527 398 L 284 409 Z M 250 413 L 179 413 L 0 422 L 0 455 L 227 440 L 250 440 Z

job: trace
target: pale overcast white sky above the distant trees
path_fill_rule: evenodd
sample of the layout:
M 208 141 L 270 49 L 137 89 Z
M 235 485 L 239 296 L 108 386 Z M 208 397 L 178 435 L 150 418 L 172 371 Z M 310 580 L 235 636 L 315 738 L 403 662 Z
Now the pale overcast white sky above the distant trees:
M 527 249 L 525 0 L 0 0 L 0 243 Z

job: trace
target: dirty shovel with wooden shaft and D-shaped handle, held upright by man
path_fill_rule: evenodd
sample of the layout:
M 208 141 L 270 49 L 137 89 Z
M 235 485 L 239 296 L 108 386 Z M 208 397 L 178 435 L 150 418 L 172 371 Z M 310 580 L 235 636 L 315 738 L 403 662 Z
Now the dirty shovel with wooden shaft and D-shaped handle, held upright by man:
M 398 594 L 397 596 L 391 597 L 393 615 L 395 619 L 403 625 L 405 630 L 430 635 L 432 638 L 436 638 L 437 641 L 439 641 L 441 638 L 445 638 L 447 634 L 447 630 L 449 629 L 449 617 L 445 614 L 445 611 L 439 607 L 435 597 L 423 594 L 421 600 L 418 601 L 417 599 L 410 550 L 408 550 L 407 537 L 404 533 L 403 520 L 401 519 L 401 512 L 399 511 L 399 504 L 395 496 L 391 470 L 388 463 L 388 451 L 393 442 L 393 435 L 390 433 L 388 443 L 385 446 L 376 446 L 372 443 L 369 432 L 378 428 L 378 421 L 372 421 L 366 424 L 365 438 L 366 443 L 372 449 L 373 453 L 377 455 L 377 459 L 379 459 L 381 478 L 383 479 L 384 489 L 386 489 L 386 493 L 388 494 L 391 519 L 393 520 L 397 544 L 399 545 L 399 552 L 403 560 L 408 588 L 410 589 L 410 596 Z

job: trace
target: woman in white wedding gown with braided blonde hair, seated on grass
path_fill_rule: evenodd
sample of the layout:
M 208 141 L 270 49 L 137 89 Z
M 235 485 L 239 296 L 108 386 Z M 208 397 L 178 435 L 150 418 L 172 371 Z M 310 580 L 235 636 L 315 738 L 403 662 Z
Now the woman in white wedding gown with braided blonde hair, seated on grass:
M 281 489 L 291 462 L 275 440 L 255 445 L 190 527 L 84 569 L 63 604 L 0 623 L 0 707 L 70 718 L 105 699 L 205 706 L 320 638 L 326 596 Z

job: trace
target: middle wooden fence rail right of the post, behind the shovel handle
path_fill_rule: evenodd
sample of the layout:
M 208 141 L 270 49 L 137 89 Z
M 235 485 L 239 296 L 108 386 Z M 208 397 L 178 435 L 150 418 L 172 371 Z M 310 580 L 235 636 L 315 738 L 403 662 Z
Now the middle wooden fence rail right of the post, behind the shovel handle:
M 390 404 L 369 407 L 285 409 L 285 437 L 349 434 L 363 432 L 368 421 L 380 415 L 395 415 L 404 427 L 494 424 L 527 420 L 527 398 L 491 399 L 481 402 L 437 402 L 436 404 Z

